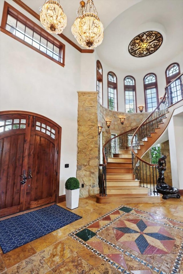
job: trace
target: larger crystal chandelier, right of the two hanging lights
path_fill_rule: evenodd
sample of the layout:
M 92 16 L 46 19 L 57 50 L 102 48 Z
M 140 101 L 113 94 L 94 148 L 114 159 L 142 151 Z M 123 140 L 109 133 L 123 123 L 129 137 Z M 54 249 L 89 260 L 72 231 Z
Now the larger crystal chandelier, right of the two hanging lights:
M 71 31 L 79 45 L 87 49 L 93 49 L 102 43 L 104 27 L 92 0 L 87 0 L 86 5 L 84 1 L 80 2 Z

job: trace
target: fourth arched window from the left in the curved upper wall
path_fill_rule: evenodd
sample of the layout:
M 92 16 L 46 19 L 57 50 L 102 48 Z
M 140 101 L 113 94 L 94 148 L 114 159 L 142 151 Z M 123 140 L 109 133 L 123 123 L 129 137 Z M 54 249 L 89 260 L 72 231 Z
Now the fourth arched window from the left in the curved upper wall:
M 154 73 L 148 73 L 144 76 L 144 97 L 146 111 L 153 111 L 159 102 L 157 78 Z

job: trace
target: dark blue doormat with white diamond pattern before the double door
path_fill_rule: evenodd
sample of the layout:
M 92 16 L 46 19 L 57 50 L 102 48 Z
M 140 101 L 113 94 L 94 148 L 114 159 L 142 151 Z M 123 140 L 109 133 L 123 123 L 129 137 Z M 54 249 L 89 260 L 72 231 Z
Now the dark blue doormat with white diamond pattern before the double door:
M 82 217 L 52 205 L 0 221 L 0 246 L 7 253 Z

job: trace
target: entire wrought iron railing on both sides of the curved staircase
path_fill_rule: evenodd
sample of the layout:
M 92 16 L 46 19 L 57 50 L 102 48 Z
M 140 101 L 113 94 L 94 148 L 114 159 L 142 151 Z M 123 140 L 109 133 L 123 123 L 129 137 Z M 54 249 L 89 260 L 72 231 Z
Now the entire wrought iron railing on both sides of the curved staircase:
M 150 164 L 138 156 L 137 151 L 147 137 L 158 128 L 158 124 L 166 117 L 168 107 L 183 99 L 183 73 L 165 87 L 164 96 L 158 106 L 142 122 L 138 128 L 134 128 L 108 140 L 103 146 L 103 164 L 99 166 L 100 195 L 107 195 L 106 166 L 110 157 L 118 154 L 119 150 L 132 149 L 132 166 L 136 180 L 140 180 L 140 186 L 150 187 L 150 194 L 156 195 L 157 170 L 156 164 Z

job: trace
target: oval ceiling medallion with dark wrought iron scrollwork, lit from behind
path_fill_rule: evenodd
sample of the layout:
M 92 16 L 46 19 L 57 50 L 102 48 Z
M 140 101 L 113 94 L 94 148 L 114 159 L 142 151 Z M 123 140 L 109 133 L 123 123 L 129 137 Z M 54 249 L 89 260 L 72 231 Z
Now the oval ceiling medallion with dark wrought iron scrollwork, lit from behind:
M 129 53 L 134 57 L 145 57 L 159 49 L 163 36 L 157 31 L 146 31 L 132 39 L 128 46 Z

